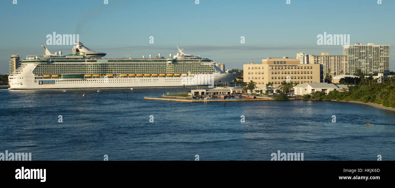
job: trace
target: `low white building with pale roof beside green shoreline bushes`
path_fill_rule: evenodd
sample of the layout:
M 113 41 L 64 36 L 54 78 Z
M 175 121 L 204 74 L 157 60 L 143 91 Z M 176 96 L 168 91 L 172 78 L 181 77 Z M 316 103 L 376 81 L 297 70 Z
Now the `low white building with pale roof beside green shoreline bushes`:
M 328 84 L 328 83 L 304 83 L 298 84 L 293 87 L 295 89 L 295 95 L 311 94 L 314 91 L 323 91 L 328 94 L 333 90 L 340 90 L 342 88 L 348 88 L 342 84 Z

